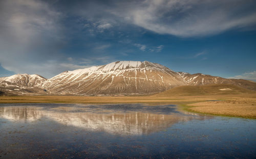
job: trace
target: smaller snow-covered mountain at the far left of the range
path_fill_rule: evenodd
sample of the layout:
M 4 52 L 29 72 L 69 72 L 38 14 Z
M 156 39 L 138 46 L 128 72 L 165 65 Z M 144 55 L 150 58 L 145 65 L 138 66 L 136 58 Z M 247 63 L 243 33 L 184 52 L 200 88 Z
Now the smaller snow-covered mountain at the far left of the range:
M 0 91 L 6 94 L 42 93 L 41 85 L 47 81 L 38 74 L 14 74 L 0 77 Z

